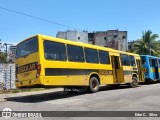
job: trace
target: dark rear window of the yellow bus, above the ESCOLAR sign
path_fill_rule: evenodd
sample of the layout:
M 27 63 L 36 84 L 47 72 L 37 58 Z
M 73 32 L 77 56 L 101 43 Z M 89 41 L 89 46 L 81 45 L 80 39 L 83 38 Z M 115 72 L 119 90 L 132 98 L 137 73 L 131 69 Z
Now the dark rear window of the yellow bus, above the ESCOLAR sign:
M 37 37 L 28 39 L 17 46 L 16 58 L 20 58 L 38 51 Z

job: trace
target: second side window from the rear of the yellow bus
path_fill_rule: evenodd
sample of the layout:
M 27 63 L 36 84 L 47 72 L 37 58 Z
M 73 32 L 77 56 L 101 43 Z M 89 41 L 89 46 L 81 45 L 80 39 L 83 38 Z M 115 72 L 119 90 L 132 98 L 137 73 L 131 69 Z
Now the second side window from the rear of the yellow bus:
M 83 48 L 73 45 L 67 45 L 68 61 L 84 62 Z

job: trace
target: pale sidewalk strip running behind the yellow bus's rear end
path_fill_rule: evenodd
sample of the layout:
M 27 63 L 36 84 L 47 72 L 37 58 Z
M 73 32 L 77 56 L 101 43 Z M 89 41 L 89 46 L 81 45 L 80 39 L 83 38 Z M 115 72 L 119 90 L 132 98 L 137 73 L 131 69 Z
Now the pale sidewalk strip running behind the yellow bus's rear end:
M 4 93 L 4 94 L 0 94 L 0 102 L 6 101 L 5 98 L 9 98 L 9 97 L 25 97 L 30 95 L 38 95 L 38 94 L 60 92 L 60 91 L 63 91 L 63 88 L 53 88 L 53 89 L 32 91 L 32 92 Z

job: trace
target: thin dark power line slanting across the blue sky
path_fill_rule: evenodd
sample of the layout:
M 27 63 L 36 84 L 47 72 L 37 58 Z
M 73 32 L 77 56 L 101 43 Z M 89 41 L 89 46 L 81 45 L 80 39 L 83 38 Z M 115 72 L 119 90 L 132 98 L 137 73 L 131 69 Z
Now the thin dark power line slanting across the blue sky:
M 61 23 L 58 23 L 58 22 L 43 19 L 43 18 L 40 18 L 40 17 L 36 17 L 36 16 L 33 16 L 33 15 L 26 14 L 26 13 L 18 12 L 18 11 L 11 10 L 11 9 L 8 9 L 8 8 L 4 8 L 4 7 L 1 7 L 1 6 L 0 6 L 0 9 L 6 10 L 6 11 L 9 11 L 9 12 L 13 12 L 13 13 L 17 13 L 17 14 L 20 14 L 20 15 L 23 15 L 23 16 L 31 17 L 31 18 L 34 18 L 34 19 L 38 19 L 38 20 L 41 20 L 41 21 L 45 21 L 45 22 L 48 22 L 48 23 L 60 25 L 60 26 L 63 26 L 63 27 L 72 28 L 72 29 L 76 29 L 76 30 L 81 30 L 81 29 L 78 29 L 78 28 L 75 28 L 75 27 L 71 27 L 71 26 L 68 26 L 68 25 L 64 25 L 64 24 L 61 24 Z

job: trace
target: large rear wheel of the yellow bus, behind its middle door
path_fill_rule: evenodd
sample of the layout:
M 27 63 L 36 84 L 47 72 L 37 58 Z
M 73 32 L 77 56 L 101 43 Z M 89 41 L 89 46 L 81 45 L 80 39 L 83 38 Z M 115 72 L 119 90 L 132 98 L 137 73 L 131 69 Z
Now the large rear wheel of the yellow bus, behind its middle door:
M 89 81 L 89 92 L 94 93 L 99 90 L 99 81 L 96 77 L 91 77 Z

